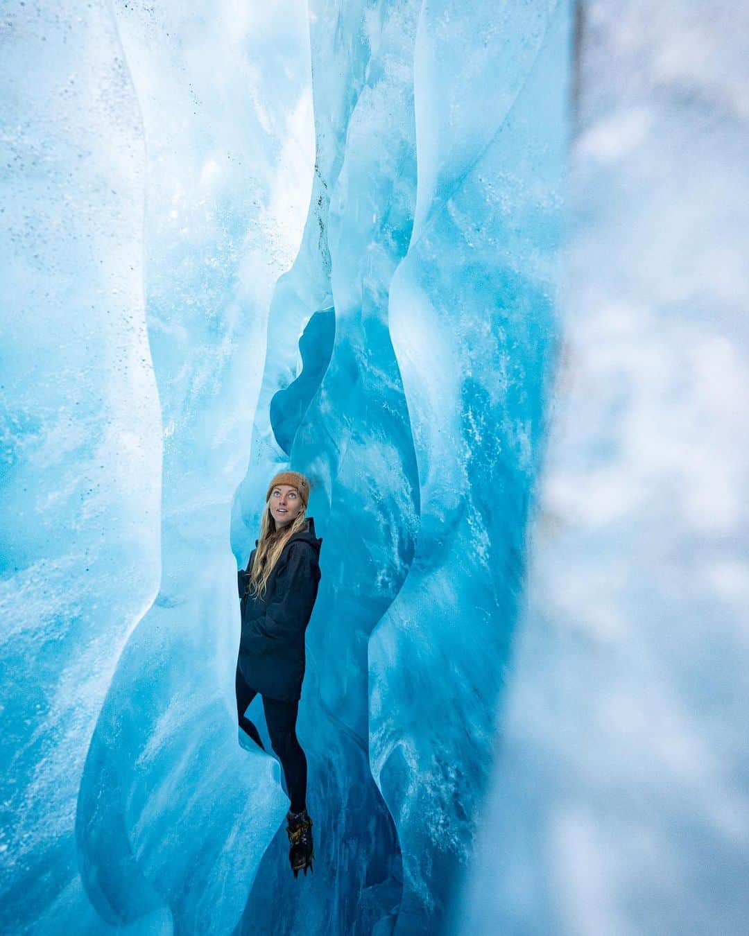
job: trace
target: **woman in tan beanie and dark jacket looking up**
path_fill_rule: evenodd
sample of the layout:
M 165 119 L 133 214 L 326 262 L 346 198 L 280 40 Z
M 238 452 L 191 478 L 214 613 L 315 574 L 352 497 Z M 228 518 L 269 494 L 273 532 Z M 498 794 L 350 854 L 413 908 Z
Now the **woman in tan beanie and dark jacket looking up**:
M 296 724 L 304 679 L 304 632 L 320 581 L 322 538 L 306 516 L 310 485 L 285 471 L 272 478 L 247 568 L 239 571 L 242 637 L 237 660 L 239 724 L 263 750 L 257 727 L 244 712 L 259 693 L 271 746 L 286 778 L 291 808 L 286 815 L 288 859 L 296 877 L 312 868 L 312 819 L 306 807 L 307 758 Z

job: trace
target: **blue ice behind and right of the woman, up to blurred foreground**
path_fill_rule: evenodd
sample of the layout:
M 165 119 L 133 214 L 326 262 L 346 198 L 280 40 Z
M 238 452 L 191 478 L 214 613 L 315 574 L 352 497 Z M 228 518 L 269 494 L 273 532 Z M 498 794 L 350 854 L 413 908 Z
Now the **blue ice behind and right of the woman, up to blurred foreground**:
M 470 854 L 542 431 L 570 41 L 565 6 L 489 12 L 313 21 L 312 212 L 272 302 L 234 536 L 246 562 L 273 471 L 313 479 L 327 575 L 301 737 L 330 863 L 301 904 L 277 841 L 242 932 L 331 913 L 341 932 L 437 931 Z M 491 118 L 473 81 L 507 89 Z

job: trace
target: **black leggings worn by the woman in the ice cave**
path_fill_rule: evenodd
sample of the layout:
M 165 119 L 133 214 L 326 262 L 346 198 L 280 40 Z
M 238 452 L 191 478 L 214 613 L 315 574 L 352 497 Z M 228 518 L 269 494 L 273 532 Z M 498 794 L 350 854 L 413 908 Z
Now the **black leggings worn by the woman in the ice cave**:
M 244 714 L 247 706 L 257 695 L 257 689 L 244 681 L 240 667 L 237 666 L 235 678 L 237 690 L 237 716 L 240 727 L 260 747 L 263 746 L 257 727 Z M 291 800 L 291 812 L 301 812 L 306 808 L 307 796 L 307 758 L 297 738 L 297 713 L 299 701 L 278 702 L 262 696 L 265 724 L 271 737 L 271 747 L 278 754 L 281 767 L 286 777 L 286 791 Z

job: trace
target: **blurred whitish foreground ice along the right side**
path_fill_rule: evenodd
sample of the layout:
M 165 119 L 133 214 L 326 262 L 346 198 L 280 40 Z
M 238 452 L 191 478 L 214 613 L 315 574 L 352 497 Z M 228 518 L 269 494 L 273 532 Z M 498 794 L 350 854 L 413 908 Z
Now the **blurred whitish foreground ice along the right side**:
M 749 932 L 749 18 L 583 5 L 564 366 L 460 931 Z

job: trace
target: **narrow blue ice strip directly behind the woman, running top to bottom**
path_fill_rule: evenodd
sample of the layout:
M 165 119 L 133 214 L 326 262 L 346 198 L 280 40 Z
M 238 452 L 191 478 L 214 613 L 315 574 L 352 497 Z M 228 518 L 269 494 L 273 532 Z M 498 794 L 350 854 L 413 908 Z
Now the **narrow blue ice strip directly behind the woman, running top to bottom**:
M 388 295 L 416 203 L 418 15 L 416 3 L 311 7 L 311 211 L 300 254 L 272 300 L 232 534 L 244 564 L 268 479 L 288 464 L 310 477 L 309 513 L 324 531 L 325 554 L 299 734 L 322 860 L 300 899 L 282 833 L 260 866 L 242 933 L 389 932 L 401 901 L 397 833 L 368 756 L 367 649 L 417 533 L 416 463 Z M 256 707 L 261 720 L 259 700 L 250 711 Z

